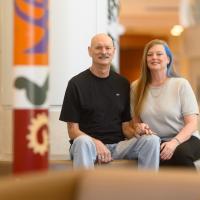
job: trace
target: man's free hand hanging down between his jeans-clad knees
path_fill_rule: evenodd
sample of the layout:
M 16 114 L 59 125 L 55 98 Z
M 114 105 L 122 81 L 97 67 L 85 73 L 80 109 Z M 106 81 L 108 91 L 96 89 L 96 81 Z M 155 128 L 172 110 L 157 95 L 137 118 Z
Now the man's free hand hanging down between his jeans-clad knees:
M 101 163 L 108 163 L 112 161 L 111 153 L 109 149 L 100 141 L 97 139 L 93 139 L 94 143 L 96 145 L 97 150 L 97 162 L 99 164 Z

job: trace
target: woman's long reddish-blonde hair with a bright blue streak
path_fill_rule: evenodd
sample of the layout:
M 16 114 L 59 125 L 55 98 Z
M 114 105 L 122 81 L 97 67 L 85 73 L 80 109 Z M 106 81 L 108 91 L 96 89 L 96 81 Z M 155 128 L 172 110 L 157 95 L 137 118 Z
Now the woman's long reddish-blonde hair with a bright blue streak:
M 143 104 L 145 96 L 146 96 L 147 87 L 151 81 L 151 73 L 147 66 L 147 53 L 148 53 L 149 49 L 151 47 L 153 47 L 154 45 L 163 45 L 165 52 L 170 59 L 170 62 L 167 65 L 167 76 L 168 77 L 178 77 L 178 75 L 176 74 L 176 72 L 174 71 L 174 68 L 173 68 L 173 57 L 172 57 L 172 53 L 171 53 L 167 43 L 165 41 L 159 40 L 159 39 L 154 39 L 154 40 L 151 40 L 150 42 L 148 42 L 145 45 L 145 48 L 143 51 L 140 77 L 137 80 L 137 83 L 135 85 L 134 94 L 132 94 L 132 95 L 134 95 L 134 102 L 131 102 L 131 103 L 133 103 L 132 107 L 133 107 L 133 112 L 134 112 L 135 117 L 140 116 L 142 104 Z

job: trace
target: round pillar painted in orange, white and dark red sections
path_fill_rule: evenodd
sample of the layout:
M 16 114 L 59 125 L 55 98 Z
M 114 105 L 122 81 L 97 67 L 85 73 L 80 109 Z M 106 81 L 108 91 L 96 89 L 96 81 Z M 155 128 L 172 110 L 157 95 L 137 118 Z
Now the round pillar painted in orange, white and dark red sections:
M 14 1 L 14 173 L 48 168 L 48 0 Z

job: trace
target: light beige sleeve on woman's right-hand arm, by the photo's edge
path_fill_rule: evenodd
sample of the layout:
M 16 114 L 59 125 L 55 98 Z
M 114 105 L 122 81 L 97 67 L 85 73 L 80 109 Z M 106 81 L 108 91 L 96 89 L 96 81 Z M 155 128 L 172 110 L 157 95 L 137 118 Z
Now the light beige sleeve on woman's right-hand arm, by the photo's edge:
M 195 94 L 187 80 L 181 85 L 180 100 L 183 115 L 199 114 L 199 107 Z

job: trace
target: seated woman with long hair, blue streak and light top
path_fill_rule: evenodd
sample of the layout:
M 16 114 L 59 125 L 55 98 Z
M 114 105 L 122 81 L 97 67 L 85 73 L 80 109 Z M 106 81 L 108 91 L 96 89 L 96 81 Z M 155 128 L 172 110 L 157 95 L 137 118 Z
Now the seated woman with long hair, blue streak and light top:
M 198 104 L 189 82 L 175 73 L 166 42 L 155 39 L 145 46 L 131 104 L 134 122 L 148 124 L 161 138 L 161 165 L 195 167 L 200 158 Z

